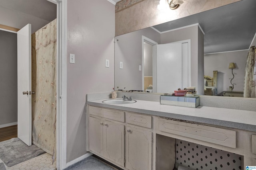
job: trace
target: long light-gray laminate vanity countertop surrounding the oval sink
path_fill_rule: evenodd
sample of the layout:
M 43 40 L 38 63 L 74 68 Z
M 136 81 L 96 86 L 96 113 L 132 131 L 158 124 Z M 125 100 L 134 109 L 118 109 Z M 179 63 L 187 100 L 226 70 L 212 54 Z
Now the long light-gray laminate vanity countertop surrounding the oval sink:
M 136 100 L 132 104 L 105 104 L 102 100 L 87 101 L 91 106 L 119 109 L 148 115 L 178 119 L 192 123 L 217 125 L 256 132 L 256 111 L 198 106 L 197 108 L 162 105 L 160 102 Z

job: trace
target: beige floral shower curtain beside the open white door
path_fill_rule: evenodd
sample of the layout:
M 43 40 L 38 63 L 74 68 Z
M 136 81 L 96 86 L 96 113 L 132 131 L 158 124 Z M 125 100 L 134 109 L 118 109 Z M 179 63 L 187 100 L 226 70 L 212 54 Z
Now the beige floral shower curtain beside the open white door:
M 56 19 L 32 34 L 32 143 L 56 158 Z

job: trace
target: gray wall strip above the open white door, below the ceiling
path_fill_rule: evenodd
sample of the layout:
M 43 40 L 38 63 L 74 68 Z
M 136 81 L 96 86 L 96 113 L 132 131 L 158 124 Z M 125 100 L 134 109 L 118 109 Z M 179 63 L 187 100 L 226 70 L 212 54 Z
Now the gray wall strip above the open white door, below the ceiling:
M 2 25 L 21 29 L 28 23 L 31 23 L 31 33 L 34 33 L 49 22 L 0 6 L 0 24 Z

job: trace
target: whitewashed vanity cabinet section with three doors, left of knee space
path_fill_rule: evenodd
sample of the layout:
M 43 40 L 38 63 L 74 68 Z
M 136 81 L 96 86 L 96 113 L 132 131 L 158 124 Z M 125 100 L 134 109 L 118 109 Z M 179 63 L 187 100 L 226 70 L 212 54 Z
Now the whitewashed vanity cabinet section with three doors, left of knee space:
M 89 106 L 89 151 L 125 170 L 152 170 L 152 116 Z

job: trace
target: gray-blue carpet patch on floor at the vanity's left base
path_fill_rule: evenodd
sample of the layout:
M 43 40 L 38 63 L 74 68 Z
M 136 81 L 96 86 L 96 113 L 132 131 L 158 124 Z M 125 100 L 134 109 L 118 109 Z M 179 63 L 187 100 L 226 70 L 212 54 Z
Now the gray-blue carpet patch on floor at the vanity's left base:
M 69 166 L 65 170 L 114 170 L 104 162 L 98 160 L 94 156 L 89 156 L 74 165 Z

